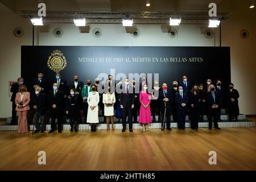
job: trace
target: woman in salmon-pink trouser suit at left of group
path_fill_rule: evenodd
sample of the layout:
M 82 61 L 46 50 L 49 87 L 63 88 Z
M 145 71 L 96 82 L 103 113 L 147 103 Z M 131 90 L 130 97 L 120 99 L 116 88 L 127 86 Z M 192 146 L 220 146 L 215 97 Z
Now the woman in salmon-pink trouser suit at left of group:
M 18 133 L 23 134 L 28 132 L 27 112 L 30 110 L 30 93 L 27 92 L 25 85 L 20 85 L 19 92 L 16 93 L 15 104 L 18 112 Z

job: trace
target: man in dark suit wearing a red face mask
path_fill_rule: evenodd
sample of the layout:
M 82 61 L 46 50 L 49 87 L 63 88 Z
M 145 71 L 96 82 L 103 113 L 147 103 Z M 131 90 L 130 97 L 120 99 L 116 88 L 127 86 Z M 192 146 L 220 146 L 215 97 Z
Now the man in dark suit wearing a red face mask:
M 164 111 L 166 110 L 166 127 L 167 130 L 171 129 L 171 100 L 172 100 L 172 93 L 167 89 L 167 84 L 162 84 L 162 90 L 159 91 L 158 100 L 160 102 L 160 110 L 161 110 L 161 118 L 162 118 L 162 127 L 161 130 L 164 130 Z

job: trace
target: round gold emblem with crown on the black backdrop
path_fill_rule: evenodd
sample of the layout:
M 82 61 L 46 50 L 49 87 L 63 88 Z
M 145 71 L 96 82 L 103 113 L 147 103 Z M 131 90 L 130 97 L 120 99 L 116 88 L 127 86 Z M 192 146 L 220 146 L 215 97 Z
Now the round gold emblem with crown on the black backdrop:
M 60 73 L 65 67 L 67 67 L 67 60 L 63 53 L 59 50 L 55 50 L 48 57 L 47 67 L 55 73 Z

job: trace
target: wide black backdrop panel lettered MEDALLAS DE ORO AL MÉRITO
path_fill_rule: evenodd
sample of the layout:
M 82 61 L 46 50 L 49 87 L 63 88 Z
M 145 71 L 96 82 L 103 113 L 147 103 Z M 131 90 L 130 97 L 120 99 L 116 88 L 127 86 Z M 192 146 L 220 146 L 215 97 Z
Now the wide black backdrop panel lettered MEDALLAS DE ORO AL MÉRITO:
M 25 84 L 31 88 L 37 73 L 52 82 L 55 72 L 47 67 L 51 53 L 59 50 L 67 60 L 61 71 L 63 78 L 72 81 L 77 74 L 80 80 L 94 78 L 99 73 L 159 73 L 159 82 L 180 81 L 187 75 L 192 83 L 205 83 L 221 79 L 230 82 L 229 47 L 114 47 L 114 46 L 22 46 L 21 73 Z

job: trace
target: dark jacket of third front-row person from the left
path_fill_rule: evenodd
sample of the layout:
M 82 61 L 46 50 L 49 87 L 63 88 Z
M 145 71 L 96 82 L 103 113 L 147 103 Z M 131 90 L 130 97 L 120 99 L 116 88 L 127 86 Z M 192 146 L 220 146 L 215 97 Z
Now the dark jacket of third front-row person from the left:
M 61 90 L 57 90 L 55 97 L 54 97 L 53 90 L 51 90 L 48 94 L 48 100 L 47 100 L 49 109 L 53 109 L 52 107 L 53 104 L 57 106 L 56 109 L 63 109 L 63 98 L 64 98 L 64 93 Z

